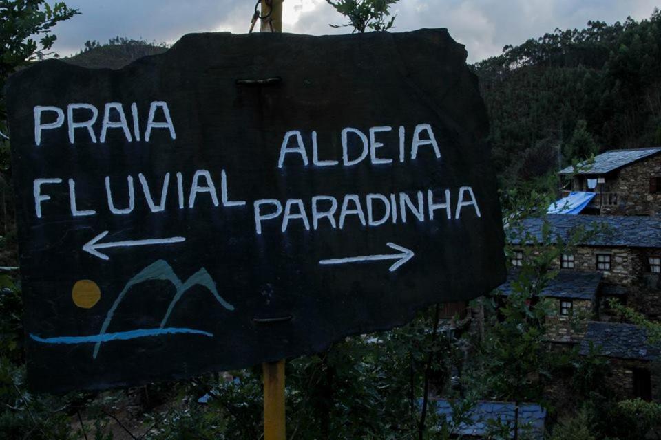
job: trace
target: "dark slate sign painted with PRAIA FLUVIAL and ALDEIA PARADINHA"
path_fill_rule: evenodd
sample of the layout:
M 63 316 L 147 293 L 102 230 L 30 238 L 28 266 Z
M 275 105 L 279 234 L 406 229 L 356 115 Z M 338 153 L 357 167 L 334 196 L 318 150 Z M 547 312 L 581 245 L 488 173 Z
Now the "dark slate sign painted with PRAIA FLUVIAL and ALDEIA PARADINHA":
M 314 353 L 499 285 L 465 56 L 445 30 L 195 34 L 120 70 L 14 75 L 33 388 Z

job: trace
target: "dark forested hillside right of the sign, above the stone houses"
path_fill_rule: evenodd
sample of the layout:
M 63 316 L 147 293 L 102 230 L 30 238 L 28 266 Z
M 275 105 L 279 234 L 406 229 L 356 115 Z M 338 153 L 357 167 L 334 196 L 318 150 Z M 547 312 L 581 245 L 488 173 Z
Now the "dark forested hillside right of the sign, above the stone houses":
M 660 46 L 655 10 L 640 22 L 556 29 L 473 65 L 501 184 L 606 149 L 661 144 Z

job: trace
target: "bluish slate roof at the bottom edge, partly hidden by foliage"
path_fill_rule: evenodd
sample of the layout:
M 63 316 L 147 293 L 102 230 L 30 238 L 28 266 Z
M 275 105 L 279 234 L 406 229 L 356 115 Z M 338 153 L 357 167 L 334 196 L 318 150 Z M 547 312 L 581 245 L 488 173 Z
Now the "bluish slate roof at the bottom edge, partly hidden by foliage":
M 452 423 L 452 406 L 446 399 L 434 401 L 439 415 Z M 455 434 L 464 436 L 483 437 L 487 434 L 489 423 L 487 421 L 500 421 L 510 426 L 510 438 L 514 437 L 514 409 L 513 402 L 504 401 L 478 401 L 474 408 L 468 412 L 472 423 L 461 423 Z M 518 405 L 518 432 L 527 435 L 525 438 L 543 439 L 546 410 L 538 404 Z

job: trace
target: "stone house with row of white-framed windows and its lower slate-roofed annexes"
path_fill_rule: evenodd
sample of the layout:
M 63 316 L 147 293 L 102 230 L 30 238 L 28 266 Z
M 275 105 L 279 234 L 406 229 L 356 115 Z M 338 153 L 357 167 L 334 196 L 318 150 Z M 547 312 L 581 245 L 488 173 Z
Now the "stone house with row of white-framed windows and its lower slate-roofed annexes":
M 571 254 L 556 261 L 558 276 L 542 294 L 556 301 L 558 314 L 549 316 L 551 342 L 589 344 L 611 359 L 616 392 L 622 398 L 651 398 L 661 392 L 652 362 L 658 350 L 648 347 L 647 335 L 636 326 L 616 322 L 607 299 L 616 298 L 647 318 L 661 316 L 661 219 L 651 216 L 587 216 L 549 214 L 546 219 L 526 219 L 523 230 L 543 242 L 543 226 L 550 238 L 568 241 L 575 232 L 583 237 Z M 547 236 L 547 239 L 549 237 Z M 514 271 L 523 265 L 528 243 L 512 255 Z M 510 283 L 501 286 L 507 294 Z

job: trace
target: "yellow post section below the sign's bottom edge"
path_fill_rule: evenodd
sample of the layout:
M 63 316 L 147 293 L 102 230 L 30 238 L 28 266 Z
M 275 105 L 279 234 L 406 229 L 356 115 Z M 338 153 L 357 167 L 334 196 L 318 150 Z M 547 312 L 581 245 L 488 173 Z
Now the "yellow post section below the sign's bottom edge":
M 264 440 L 285 440 L 284 360 L 264 362 Z

